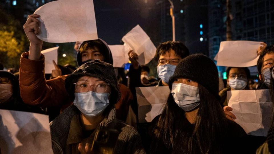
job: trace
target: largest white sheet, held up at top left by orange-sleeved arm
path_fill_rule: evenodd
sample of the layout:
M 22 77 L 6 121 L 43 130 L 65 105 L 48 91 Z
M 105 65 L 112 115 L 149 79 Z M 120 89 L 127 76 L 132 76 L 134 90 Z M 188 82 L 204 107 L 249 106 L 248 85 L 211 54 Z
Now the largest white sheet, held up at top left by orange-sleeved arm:
M 93 0 L 53 1 L 39 7 L 40 32 L 45 42 L 64 43 L 96 40 L 97 28 Z

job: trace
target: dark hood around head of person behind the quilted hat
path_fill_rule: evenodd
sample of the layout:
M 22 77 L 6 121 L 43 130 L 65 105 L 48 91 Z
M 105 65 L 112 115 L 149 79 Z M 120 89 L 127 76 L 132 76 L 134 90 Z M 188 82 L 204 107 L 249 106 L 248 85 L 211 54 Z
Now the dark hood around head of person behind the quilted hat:
M 93 40 L 88 40 L 88 41 L 93 41 Z M 84 44 L 85 42 L 88 42 L 88 41 L 84 41 L 82 44 Z M 111 54 L 110 48 L 108 47 L 108 44 L 104 40 L 102 40 L 101 38 L 98 38 L 98 41 L 100 41 L 102 44 L 104 44 L 104 46 L 102 46 L 103 51 L 100 51 L 105 57 L 104 62 L 107 62 L 107 63 L 113 65 L 112 54 Z M 79 49 L 81 48 L 82 44 L 80 45 Z M 76 61 L 77 61 L 78 67 L 81 66 L 82 64 L 84 64 L 82 62 L 82 58 L 81 58 L 81 54 L 79 52 L 79 49 L 78 49 L 78 52 L 76 54 Z M 90 60 L 87 60 L 85 62 L 88 62 L 88 61 L 90 61 Z

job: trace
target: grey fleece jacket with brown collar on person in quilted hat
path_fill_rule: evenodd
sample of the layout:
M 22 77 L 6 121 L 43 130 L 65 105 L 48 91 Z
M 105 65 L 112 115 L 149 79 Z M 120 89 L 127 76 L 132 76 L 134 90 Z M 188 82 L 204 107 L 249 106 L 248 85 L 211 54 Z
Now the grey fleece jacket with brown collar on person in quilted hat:
M 55 154 L 69 154 L 72 150 L 67 146 L 67 138 L 70 122 L 74 115 L 80 114 L 76 106 L 71 105 L 50 123 L 52 148 Z M 115 118 L 116 110 L 113 108 L 108 116 L 98 125 L 96 129 L 107 128 L 119 131 L 118 140 L 114 153 L 138 154 L 146 153 L 141 142 L 139 133 L 134 127 Z M 96 132 L 96 131 L 94 131 Z M 95 133 L 92 133 L 95 135 Z

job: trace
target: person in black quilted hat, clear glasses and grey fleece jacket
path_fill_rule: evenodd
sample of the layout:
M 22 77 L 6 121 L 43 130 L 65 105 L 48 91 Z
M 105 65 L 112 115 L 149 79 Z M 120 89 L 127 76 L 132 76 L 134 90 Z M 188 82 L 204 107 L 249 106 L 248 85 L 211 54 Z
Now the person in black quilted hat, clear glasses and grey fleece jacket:
M 115 118 L 121 94 L 111 64 L 87 62 L 65 87 L 73 105 L 50 123 L 54 153 L 145 153 L 138 132 Z

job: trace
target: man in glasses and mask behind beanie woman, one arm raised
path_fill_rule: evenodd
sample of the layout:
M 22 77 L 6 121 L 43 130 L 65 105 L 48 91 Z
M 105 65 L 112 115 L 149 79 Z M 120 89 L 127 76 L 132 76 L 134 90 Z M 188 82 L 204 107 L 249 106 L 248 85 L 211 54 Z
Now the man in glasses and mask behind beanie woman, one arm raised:
M 139 87 L 141 83 L 141 67 L 137 62 L 138 55 L 135 52 L 130 51 L 128 52 L 128 55 L 129 60 L 132 63 L 129 70 L 130 89 L 135 90 L 135 87 Z M 155 54 L 155 58 L 158 62 L 157 72 L 160 78 L 157 86 L 168 86 L 168 80 L 173 75 L 179 61 L 188 55 L 189 50 L 182 42 L 167 41 L 160 44 Z

